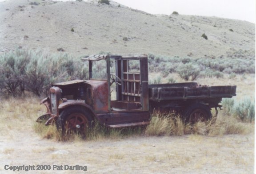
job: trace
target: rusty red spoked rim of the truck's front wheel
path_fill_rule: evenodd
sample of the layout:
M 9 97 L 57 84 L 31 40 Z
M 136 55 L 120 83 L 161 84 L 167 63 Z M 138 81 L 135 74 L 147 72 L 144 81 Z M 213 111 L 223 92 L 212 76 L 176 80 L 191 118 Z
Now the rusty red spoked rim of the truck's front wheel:
M 85 131 L 85 128 L 88 127 L 88 120 L 84 114 L 81 113 L 72 113 L 66 119 L 65 130 L 70 133 L 82 132 Z

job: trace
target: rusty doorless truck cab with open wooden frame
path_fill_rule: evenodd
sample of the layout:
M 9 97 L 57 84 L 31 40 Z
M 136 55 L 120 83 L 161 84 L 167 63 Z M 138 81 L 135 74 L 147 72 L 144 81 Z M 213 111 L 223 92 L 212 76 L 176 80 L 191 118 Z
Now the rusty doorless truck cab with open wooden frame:
M 85 103 L 101 124 L 113 128 L 149 124 L 147 55 L 95 55 L 82 60 L 89 62 Z M 106 64 L 106 79 L 92 78 L 96 61 Z

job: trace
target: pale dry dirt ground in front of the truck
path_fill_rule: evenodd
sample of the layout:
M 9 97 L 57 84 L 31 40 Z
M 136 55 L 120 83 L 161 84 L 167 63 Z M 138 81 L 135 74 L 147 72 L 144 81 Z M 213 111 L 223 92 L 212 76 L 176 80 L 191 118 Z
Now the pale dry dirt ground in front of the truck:
M 0 173 L 4 166 L 50 165 L 51 170 L 21 173 L 91 174 L 252 174 L 254 135 L 130 137 L 56 142 L 28 128 L 0 135 Z M 54 170 L 62 165 L 63 170 Z M 64 165 L 87 166 L 64 170 Z M 35 167 L 36 169 L 36 167 Z

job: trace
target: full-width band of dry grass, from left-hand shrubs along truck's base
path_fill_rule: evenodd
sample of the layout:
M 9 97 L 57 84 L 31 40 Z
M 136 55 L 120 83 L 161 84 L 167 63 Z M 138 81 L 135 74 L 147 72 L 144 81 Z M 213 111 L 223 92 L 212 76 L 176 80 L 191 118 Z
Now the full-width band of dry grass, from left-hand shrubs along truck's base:
M 31 97 L 25 99 L 8 99 L 4 100 L 1 105 L 0 131 L 9 135 L 9 130 L 24 131 L 34 130 L 41 138 L 52 139 L 55 141 L 84 141 L 80 135 L 73 135 L 63 138 L 56 126 L 44 126 L 36 123 L 35 120 L 40 114 L 44 113 L 44 106 L 39 105 L 39 99 Z M 225 115 L 220 112 L 219 116 L 209 120 L 206 123 L 198 122 L 194 125 L 184 124 L 180 116 L 175 114 L 161 114 L 155 112 L 152 114 L 151 123 L 146 128 L 127 128 L 127 129 L 110 129 L 95 123 L 86 135 L 87 140 L 103 141 L 106 139 L 123 139 L 131 136 L 159 136 L 159 135 L 208 135 L 222 136 L 226 134 L 246 135 L 254 130 L 253 123 L 244 123 L 233 116 Z

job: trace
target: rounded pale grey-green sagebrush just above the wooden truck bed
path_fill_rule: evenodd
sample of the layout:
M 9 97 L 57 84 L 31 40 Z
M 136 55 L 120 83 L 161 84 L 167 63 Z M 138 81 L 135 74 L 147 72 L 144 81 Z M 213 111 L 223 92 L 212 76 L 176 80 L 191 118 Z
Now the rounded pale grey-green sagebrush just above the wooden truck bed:
M 184 65 L 180 65 L 176 72 L 180 75 L 181 78 L 188 81 L 191 77 L 191 80 L 195 80 L 196 77 L 200 74 L 200 68 L 193 63 L 187 63 Z

